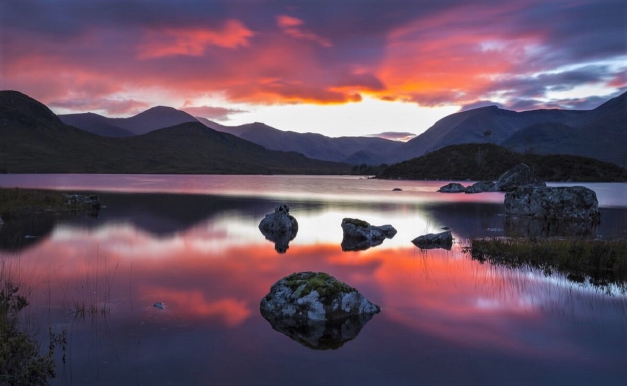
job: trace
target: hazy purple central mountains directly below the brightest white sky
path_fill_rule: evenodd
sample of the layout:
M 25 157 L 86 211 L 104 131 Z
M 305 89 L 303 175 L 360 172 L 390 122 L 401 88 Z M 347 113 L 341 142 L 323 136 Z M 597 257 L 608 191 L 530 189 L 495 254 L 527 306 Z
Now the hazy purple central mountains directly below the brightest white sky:
M 309 158 L 350 164 L 381 164 L 387 154 L 403 142 L 378 137 L 327 137 L 311 132 L 282 131 L 255 122 L 241 126 L 223 126 L 204 120 L 204 124 L 218 131 L 229 132 L 266 149 L 297 151 Z

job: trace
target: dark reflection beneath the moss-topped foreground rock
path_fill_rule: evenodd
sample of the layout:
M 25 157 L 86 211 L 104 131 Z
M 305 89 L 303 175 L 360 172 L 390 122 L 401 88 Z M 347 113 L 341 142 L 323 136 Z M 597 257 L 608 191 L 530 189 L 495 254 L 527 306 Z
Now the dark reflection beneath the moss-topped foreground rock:
M 337 350 L 347 341 L 357 338 L 374 314 L 349 316 L 337 321 L 280 318 L 261 309 L 273 330 L 312 350 Z

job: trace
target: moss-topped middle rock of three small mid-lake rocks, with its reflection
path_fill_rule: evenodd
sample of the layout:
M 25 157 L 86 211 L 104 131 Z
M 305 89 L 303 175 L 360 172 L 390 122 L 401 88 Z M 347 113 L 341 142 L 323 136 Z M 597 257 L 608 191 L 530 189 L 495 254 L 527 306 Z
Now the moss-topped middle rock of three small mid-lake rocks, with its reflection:
M 364 250 L 392 239 L 396 229 L 392 225 L 376 227 L 359 218 L 342 219 L 342 250 Z

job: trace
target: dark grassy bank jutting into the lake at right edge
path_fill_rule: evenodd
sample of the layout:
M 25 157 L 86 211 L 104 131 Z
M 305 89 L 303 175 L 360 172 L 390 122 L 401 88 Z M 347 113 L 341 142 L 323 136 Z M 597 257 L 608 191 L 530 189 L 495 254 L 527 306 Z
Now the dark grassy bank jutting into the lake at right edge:
M 616 284 L 627 291 L 627 240 L 576 238 L 470 239 L 464 248 L 473 259 L 507 267 L 561 272 L 575 282 Z

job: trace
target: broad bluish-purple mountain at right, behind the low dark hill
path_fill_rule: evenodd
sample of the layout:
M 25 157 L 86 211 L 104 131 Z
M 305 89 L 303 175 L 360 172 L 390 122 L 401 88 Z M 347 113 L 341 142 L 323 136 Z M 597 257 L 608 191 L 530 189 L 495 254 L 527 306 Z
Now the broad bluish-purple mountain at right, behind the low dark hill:
M 593 110 L 480 107 L 440 119 L 386 159 L 404 161 L 451 144 L 492 143 L 520 153 L 574 154 L 627 164 L 626 128 L 627 93 Z

